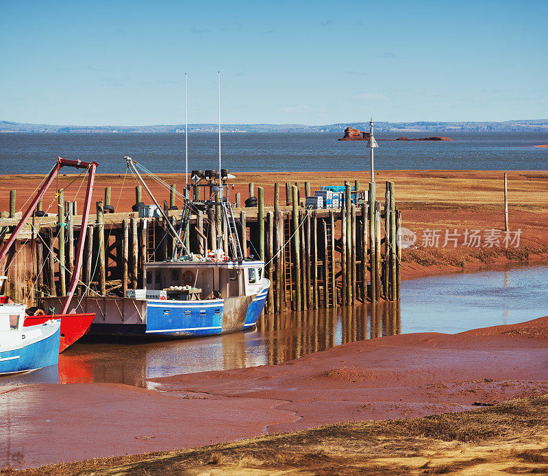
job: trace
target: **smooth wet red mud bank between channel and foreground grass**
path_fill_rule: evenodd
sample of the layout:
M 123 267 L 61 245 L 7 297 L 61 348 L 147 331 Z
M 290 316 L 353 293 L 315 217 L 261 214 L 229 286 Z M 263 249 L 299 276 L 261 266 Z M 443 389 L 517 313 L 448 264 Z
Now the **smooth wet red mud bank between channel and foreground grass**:
M 279 364 L 113 384 L 3 389 L 3 465 L 168 451 L 325 423 L 411 418 L 548 392 L 548 317 L 402 334 Z M 52 444 L 36 444 L 49 441 Z

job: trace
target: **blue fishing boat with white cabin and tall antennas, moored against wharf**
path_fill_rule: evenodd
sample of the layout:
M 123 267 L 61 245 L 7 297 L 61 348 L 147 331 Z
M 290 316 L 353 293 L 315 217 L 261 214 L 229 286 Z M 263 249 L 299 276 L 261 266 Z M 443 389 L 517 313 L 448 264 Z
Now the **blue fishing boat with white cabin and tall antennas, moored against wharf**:
M 185 142 L 187 136 L 185 134 Z M 178 338 L 252 329 L 264 308 L 271 282 L 264 277 L 264 261 L 244 258 L 232 204 L 228 201 L 227 180 L 231 176 L 228 170 L 221 168 L 220 79 L 219 172 L 192 171 L 192 183 L 187 181 L 185 194 L 181 195 L 184 205 L 177 216 L 177 230 L 171 224 L 169 212 L 155 199 L 138 168 L 166 188 L 169 186 L 132 158 L 125 157 L 125 160 L 127 169 L 134 173 L 153 201 L 151 206 L 162 216 L 166 231 L 175 240 L 175 247 L 169 260 L 143 260 L 142 288 L 127 290 L 123 297 L 83 297 L 79 300 L 79 310 L 96 314 L 90 334 Z M 188 177 L 187 142 L 185 177 Z M 197 189 L 199 194 L 195 193 Z M 189 195 L 208 199 L 191 200 Z M 188 231 L 191 218 L 197 219 L 198 214 L 210 216 L 208 223 L 211 236 L 215 238 L 210 240 L 211 246 L 207 249 L 208 238 L 202 235 L 201 247 L 192 252 Z M 60 308 L 59 298 L 49 297 L 43 301 L 47 306 Z

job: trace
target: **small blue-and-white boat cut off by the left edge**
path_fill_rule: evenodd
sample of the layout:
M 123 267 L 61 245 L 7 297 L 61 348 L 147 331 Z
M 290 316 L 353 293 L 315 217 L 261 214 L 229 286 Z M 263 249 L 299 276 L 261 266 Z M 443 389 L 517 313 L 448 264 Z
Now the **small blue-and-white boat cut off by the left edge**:
M 23 327 L 24 321 L 25 305 L 0 304 L 0 375 L 58 363 L 60 321 Z

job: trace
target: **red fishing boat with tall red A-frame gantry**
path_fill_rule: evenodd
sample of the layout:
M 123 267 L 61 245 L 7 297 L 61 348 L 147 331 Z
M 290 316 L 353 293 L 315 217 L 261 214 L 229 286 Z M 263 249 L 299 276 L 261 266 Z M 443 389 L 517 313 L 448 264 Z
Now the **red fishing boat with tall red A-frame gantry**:
M 38 202 L 42 197 L 44 196 L 47 188 L 53 181 L 56 175 L 58 175 L 59 170 L 62 166 L 71 166 L 75 168 L 87 168 L 88 169 L 88 187 L 86 190 L 86 200 L 84 201 L 84 212 L 82 214 L 82 226 L 80 228 L 80 235 L 78 238 L 78 248 L 77 248 L 77 254 L 75 259 L 75 265 L 74 265 L 74 272 L 71 279 L 71 284 L 69 285 L 69 290 L 66 294 L 66 297 L 64 299 L 64 303 L 62 306 L 62 310 L 60 314 L 45 314 L 42 310 L 35 310 L 32 312 L 32 315 L 29 315 L 27 312 L 25 315 L 25 321 L 23 323 L 23 327 L 30 327 L 34 325 L 39 325 L 42 323 L 45 323 L 47 321 L 50 321 L 51 319 L 55 319 L 60 321 L 61 323 L 61 329 L 60 329 L 60 344 L 59 344 L 59 351 L 62 352 L 64 349 L 69 347 L 71 344 L 76 342 L 79 338 L 84 336 L 86 332 L 89 330 L 91 323 L 93 319 L 95 318 L 95 314 L 92 313 L 71 313 L 67 314 L 67 310 L 69 308 L 69 304 L 71 303 L 71 299 L 74 295 L 76 286 L 79 281 L 79 272 L 80 268 L 82 267 L 82 255 L 84 253 L 84 242 L 86 239 L 86 231 L 88 228 L 88 216 L 90 211 L 90 203 L 91 203 L 91 192 L 93 189 L 93 181 L 95 179 L 95 168 L 97 168 L 97 162 L 82 162 L 80 160 L 66 160 L 62 158 L 58 158 L 57 163 L 55 166 L 51 169 L 51 172 L 49 173 L 47 179 L 44 181 L 44 184 L 42 184 L 40 190 L 38 190 L 36 197 L 34 197 L 34 200 L 29 205 L 29 208 L 25 211 L 23 216 L 21 216 L 21 221 L 19 221 L 18 225 L 15 227 L 14 231 L 12 232 L 10 238 L 7 242 L 3 245 L 1 251 L 0 251 L 0 262 L 5 258 L 5 256 L 8 254 L 8 251 L 10 247 L 13 245 L 14 241 L 16 240 L 19 232 L 21 231 L 21 228 L 27 220 L 29 219 L 29 216 L 32 215 L 34 210 L 36 209 L 36 206 L 38 205 Z M 0 295 L 0 305 L 2 304 L 12 304 L 14 303 L 9 297 Z

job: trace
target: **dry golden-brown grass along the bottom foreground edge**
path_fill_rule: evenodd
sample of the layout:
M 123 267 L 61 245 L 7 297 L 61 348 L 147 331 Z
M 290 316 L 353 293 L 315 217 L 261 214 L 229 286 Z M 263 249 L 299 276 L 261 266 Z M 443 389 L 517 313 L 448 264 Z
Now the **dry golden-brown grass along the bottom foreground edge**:
M 471 412 L 340 423 L 214 447 L 0 471 L 4 476 L 547 473 L 546 396 Z

